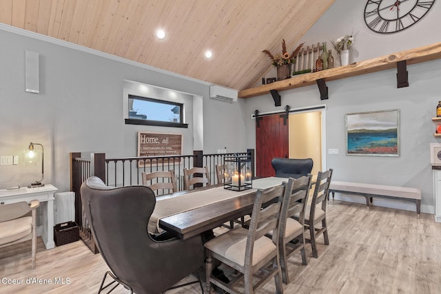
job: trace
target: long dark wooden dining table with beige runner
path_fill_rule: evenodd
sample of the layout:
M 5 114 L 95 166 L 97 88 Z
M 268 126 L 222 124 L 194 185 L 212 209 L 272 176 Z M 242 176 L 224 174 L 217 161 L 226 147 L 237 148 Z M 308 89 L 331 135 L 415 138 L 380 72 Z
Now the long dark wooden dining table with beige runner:
M 253 180 L 252 189 L 232 191 L 223 186 L 181 191 L 156 198 L 149 221 L 151 233 L 162 230 L 183 240 L 252 212 L 257 189 L 282 185 L 287 178 Z

